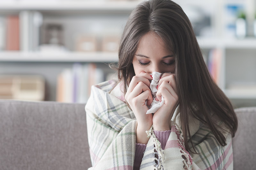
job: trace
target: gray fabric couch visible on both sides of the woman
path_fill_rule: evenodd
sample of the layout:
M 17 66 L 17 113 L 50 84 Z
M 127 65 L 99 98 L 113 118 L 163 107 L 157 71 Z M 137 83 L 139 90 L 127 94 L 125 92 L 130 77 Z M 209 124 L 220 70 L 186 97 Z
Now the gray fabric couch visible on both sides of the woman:
M 91 166 L 85 104 L 0 101 L 0 170 L 85 170 Z M 234 169 L 254 167 L 256 107 L 236 109 Z

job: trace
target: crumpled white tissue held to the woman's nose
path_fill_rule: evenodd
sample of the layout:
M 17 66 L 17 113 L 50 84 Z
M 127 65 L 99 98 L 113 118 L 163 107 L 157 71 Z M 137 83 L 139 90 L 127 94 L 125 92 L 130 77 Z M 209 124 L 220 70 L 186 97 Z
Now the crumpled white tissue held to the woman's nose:
M 155 113 L 163 104 L 164 104 L 164 97 L 162 96 L 162 101 L 156 101 L 156 87 L 158 85 L 159 78 L 162 76 L 163 73 L 153 72 L 151 75 L 153 80 L 150 83 L 150 89 L 153 96 L 153 102 L 148 106 L 149 110 L 146 114 Z

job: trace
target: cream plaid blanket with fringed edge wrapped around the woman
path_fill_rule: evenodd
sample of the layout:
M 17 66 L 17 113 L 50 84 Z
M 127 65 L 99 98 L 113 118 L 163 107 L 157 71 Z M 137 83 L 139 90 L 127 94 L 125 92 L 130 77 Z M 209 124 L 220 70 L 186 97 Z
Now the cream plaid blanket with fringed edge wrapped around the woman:
M 85 106 L 92 161 L 89 170 L 133 169 L 136 118 L 124 103 L 119 85 L 117 81 L 106 81 L 92 86 Z M 164 150 L 159 146 L 152 128 L 147 131 L 150 138 L 140 169 L 233 169 L 231 135 L 227 134 L 227 145 L 223 147 L 205 124 L 191 117 L 189 140 L 199 154 L 189 153 L 184 148 L 177 110 L 172 117 L 171 134 Z M 192 148 L 192 145 L 189 147 Z

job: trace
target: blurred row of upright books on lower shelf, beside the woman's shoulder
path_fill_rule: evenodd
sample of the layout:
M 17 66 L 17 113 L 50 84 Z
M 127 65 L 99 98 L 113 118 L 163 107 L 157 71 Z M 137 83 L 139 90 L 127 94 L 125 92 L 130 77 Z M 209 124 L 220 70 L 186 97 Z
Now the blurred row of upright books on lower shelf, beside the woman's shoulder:
M 91 86 L 107 80 L 104 73 L 94 63 L 75 63 L 72 68 L 63 70 L 57 79 L 58 102 L 86 103 L 91 92 Z

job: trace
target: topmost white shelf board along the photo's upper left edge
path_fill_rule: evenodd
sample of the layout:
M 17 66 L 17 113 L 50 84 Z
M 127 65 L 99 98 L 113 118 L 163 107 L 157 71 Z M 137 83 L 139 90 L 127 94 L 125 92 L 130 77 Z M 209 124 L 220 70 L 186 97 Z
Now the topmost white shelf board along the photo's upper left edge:
M 141 1 L 1 1 L 0 10 L 132 11 Z

